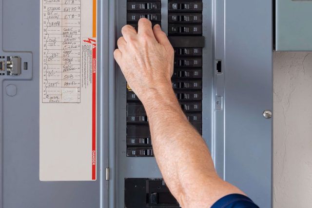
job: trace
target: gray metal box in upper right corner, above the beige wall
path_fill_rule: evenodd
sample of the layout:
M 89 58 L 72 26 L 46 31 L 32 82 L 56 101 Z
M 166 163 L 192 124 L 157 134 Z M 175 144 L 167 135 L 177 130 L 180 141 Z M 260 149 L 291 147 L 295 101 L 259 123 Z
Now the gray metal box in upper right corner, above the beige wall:
M 276 1 L 276 51 L 312 50 L 312 1 Z

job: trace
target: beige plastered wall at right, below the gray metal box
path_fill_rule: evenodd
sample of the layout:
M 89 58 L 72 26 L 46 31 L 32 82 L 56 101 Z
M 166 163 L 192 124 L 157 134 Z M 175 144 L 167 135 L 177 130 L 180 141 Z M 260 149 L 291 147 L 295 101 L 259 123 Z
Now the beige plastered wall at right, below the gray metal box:
M 312 52 L 275 52 L 273 205 L 312 207 Z

